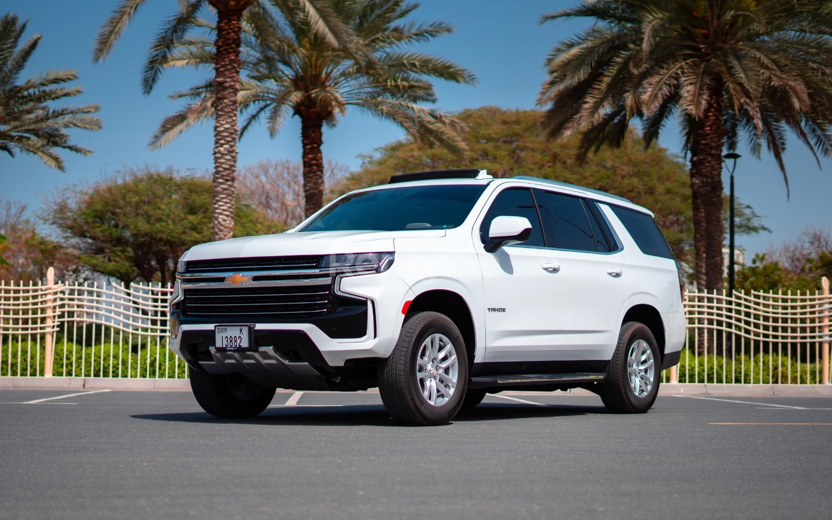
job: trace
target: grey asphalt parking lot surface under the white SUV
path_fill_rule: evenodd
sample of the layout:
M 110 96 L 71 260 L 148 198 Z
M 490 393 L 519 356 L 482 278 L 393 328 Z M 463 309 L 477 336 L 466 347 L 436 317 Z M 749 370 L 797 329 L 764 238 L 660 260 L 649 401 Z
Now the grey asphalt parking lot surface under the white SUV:
M 832 518 L 832 399 L 499 394 L 447 426 L 378 394 L 0 390 L 0 518 Z

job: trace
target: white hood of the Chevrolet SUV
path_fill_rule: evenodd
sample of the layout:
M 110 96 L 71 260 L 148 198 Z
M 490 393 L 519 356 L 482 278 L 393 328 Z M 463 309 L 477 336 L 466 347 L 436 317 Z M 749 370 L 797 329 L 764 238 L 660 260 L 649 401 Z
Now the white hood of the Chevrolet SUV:
M 244 236 L 195 245 L 180 260 L 212 260 L 253 256 L 335 255 L 394 251 L 397 238 L 438 238 L 445 230 L 316 231 Z

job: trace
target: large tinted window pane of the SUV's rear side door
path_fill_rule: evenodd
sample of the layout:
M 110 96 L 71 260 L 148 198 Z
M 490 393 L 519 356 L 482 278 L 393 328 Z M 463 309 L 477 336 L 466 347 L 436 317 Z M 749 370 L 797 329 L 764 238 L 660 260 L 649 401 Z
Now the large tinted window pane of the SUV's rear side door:
M 535 190 L 537 207 L 546 230 L 546 244 L 560 249 L 595 251 L 592 226 L 577 197 Z

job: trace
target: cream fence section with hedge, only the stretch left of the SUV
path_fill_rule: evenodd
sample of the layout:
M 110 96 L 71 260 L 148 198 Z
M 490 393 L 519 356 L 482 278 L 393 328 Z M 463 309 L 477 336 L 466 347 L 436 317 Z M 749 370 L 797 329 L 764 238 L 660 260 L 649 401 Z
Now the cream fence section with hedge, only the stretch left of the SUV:
M 0 282 L 0 376 L 185 378 L 160 285 Z

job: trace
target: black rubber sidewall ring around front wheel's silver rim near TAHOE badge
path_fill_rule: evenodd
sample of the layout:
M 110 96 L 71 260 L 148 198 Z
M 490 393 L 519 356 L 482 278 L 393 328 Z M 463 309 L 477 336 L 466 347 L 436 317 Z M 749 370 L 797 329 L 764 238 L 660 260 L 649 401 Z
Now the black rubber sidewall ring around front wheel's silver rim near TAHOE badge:
M 418 314 L 415 317 L 418 317 Z M 448 403 L 442 406 L 428 404 L 422 396 L 422 392 L 418 386 L 418 379 L 416 378 L 416 358 L 418 351 L 424 340 L 431 334 L 443 334 L 443 336 L 451 340 L 453 349 L 457 354 L 459 367 L 457 388 L 454 390 L 453 396 L 448 400 Z M 443 314 L 434 314 L 425 320 L 421 327 L 419 327 L 418 334 L 414 335 L 414 342 L 409 345 L 406 370 L 410 397 L 414 400 L 414 404 L 420 414 L 428 418 L 431 422 L 446 422 L 458 414 L 459 409 L 462 407 L 465 391 L 468 387 L 468 354 L 465 349 L 462 334 L 459 333 L 459 329 L 453 324 L 453 321 Z

